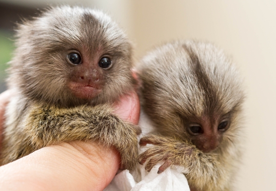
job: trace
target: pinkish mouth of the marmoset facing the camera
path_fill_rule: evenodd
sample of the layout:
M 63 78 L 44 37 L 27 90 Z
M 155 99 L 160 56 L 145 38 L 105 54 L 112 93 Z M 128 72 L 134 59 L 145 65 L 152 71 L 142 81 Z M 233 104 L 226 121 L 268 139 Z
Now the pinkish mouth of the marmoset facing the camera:
M 101 92 L 100 85 L 83 85 L 71 82 L 68 86 L 74 96 L 85 100 L 93 99 Z

